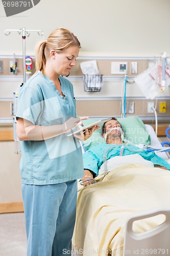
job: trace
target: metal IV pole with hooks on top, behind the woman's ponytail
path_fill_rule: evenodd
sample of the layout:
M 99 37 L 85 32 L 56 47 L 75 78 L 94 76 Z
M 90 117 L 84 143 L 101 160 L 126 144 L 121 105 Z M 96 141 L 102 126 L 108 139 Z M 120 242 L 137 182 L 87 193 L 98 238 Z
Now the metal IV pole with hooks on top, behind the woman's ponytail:
M 29 37 L 30 34 L 28 32 L 32 31 L 32 32 L 38 32 L 38 34 L 40 36 L 42 36 L 43 31 L 42 30 L 34 30 L 34 29 L 26 30 L 26 28 L 21 28 L 21 29 L 6 29 L 4 31 L 4 33 L 5 33 L 5 35 L 9 35 L 11 33 L 11 31 L 17 31 L 19 35 L 22 32 L 23 83 L 25 83 L 26 82 L 26 34 Z

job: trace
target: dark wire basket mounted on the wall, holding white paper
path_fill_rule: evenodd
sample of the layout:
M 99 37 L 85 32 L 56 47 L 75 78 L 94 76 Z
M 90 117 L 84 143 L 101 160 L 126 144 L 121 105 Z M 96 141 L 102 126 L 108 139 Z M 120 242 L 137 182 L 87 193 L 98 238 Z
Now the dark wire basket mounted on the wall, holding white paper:
M 103 86 L 103 75 L 83 75 L 85 92 L 100 92 Z

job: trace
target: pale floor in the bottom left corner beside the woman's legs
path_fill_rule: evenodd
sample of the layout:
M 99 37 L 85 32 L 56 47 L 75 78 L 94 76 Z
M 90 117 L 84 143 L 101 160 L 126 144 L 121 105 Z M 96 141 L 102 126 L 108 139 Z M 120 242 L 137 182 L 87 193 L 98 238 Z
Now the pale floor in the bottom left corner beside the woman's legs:
M 26 228 L 23 212 L 0 214 L 0 255 L 27 255 Z

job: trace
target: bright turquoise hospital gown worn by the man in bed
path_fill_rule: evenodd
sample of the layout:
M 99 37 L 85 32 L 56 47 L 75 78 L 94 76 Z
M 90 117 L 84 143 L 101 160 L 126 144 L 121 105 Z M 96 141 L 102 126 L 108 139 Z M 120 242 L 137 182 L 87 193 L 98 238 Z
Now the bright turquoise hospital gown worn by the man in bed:
M 107 155 L 107 160 L 120 155 L 122 145 L 100 143 L 91 147 L 83 154 L 84 169 L 92 170 L 93 173 L 98 175 L 99 169 L 104 162 L 104 155 Z M 123 156 L 139 154 L 145 160 L 151 161 L 153 164 L 158 164 L 170 170 L 170 165 L 161 157 L 157 156 L 154 152 L 140 151 L 140 148 L 127 145 L 124 147 Z

